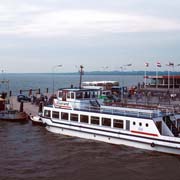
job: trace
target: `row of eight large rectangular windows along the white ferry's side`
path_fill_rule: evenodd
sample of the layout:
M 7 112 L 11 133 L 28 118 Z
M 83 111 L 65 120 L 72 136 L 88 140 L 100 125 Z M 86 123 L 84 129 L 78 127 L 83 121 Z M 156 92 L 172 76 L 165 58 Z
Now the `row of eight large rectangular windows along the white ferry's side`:
M 49 110 L 45 110 L 44 111 L 44 116 L 50 118 L 51 117 L 51 112 Z M 59 119 L 60 118 L 60 113 L 57 112 L 57 111 L 53 111 L 52 112 L 52 118 Z M 61 112 L 61 119 L 69 120 L 69 114 L 65 113 L 65 112 Z M 71 113 L 70 114 L 70 120 L 77 122 L 78 121 L 78 114 Z M 89 123 L 89 116 L 80 115 L 80 122 Z M 101 122 L 102 122 L 103 126 L 111 127 L 111 119 L 110 118 L 102 117 Z M 97 116 L 90 116 L 90 124 L 99 125 L 100 124 L 100 118 L 97 117 Z M 123 120 L 113 119 L 113 127 L 123 129 L 123 127 L 124 127 Z

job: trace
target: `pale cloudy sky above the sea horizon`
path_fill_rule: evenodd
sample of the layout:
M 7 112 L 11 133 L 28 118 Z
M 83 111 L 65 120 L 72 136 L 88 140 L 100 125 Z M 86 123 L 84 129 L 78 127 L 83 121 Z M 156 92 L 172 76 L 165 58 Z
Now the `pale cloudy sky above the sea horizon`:
M 179 7 L 179 0 L 0 0 L 0 70 L 136 71 L 146 62 L 167 70 L 173 62 L 179 71 Z

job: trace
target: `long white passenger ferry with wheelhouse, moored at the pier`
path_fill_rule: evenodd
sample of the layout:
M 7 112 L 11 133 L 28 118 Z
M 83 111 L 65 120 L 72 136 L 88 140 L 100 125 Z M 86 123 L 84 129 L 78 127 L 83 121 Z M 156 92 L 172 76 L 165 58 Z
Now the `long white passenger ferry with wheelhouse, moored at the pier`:
M 100 105 L 98 90 L 61 89 L 54 104 L 44 106 L 48 131 L 180 155 L 180 118 L 159 109 Z

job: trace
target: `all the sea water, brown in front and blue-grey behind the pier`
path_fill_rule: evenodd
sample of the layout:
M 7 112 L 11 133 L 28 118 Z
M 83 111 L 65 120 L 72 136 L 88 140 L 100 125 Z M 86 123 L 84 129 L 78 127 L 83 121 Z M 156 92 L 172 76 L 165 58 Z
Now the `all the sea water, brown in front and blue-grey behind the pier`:
M 8 75 L 13 92 L 50 88 L 51 75 Z M 136 85 L 142 77 L 84 76 Z M 78 76 L 55 75 L 55 89 Z M 0 180 L 179 180 L 180 157 L 56 135 L 31 122 L 0 122 Z

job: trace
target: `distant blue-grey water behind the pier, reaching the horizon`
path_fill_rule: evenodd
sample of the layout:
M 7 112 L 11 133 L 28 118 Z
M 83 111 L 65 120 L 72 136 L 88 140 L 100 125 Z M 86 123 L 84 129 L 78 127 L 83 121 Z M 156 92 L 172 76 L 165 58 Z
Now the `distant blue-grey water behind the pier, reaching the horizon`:
M 60 74 L 5 74 L 2 78 L 10 80 L 9 89 L 18 94 L 20 89 L 37 89 L 45 91 L 46 88 L 52 92 L 54 89 L 70 87 L 71 84 L 79 86 L 79 75 Z M 0 79 L 2 79 L 0 78 Z M 84 75 L 83 81 L 113 80 L 119 81 L 121 86 L 137 85 L 143 82 L 142 76 L 118 76 L 118 75 Z

